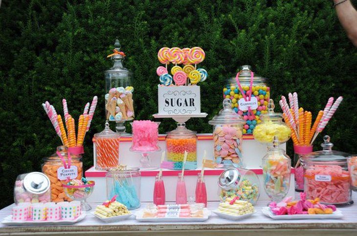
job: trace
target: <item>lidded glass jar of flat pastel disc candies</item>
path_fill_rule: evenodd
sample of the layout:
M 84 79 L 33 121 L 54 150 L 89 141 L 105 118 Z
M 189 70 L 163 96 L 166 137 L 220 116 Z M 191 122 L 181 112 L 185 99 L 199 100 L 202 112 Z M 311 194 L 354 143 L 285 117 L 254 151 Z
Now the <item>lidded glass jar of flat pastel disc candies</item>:
M 208 123 L 213 125 L 213 150 L 218 167 L 245 167 L 242 154 L 242 116 L 232 109 L 230 99 L 223 100 L 223 109 Z

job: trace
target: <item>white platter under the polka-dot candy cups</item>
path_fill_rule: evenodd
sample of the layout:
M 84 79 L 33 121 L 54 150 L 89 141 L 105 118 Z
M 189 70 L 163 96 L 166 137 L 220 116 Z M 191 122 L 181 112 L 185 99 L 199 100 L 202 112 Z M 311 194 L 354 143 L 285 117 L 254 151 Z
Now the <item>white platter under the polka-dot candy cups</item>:
M 6 225 L 13 225 L 13 226 L 24 226 L 24 225 L 68 225 L 68 224 L 74 224 L 86 217 L 86 213 L 82 212 L 80 216 L 73 220 L 45 220 L 45 221 L 33 221 L 33 220 L 27 220 L 27 221 L 13 221 L 12 220 L 12 215 L 6 216 L 1 223 L 6 224 Z

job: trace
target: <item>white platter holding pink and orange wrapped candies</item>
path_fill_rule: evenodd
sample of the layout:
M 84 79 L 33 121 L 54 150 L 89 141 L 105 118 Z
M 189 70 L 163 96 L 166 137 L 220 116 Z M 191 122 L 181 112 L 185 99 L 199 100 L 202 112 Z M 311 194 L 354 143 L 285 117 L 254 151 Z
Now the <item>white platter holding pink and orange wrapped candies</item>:
M 269 207 L 263 207 L 262 212 L 265 216 L 268 216 L 272 219 L 339 219 L 342 218 L 342 212 L 340 210 L 336 210 L 333 214 L 315 214 L 315 215 L 274 215 Z

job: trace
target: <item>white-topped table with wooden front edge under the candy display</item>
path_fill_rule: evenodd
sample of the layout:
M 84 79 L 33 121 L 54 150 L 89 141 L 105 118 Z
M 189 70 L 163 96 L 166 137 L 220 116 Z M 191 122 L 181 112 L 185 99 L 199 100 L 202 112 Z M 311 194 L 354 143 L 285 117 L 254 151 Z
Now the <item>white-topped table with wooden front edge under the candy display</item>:
M 298 197 L 296 195 L 296 197 Z M 353 194 L 355 202 L 357 194 Z M 339 208 L 344 215 L 341 219 L 313 219 L 313 220 L 273 220 L 261 213 L 262 207 L 268 201 L 258 201 L 257 213 L 241 221 L 230 221 L 220 218 L 212 213 L 212 216 L 205 222 L 167 222 L 167 223 L 147 223 L 138 222 L 130 218 L 121 222 L 103 223 L 92 215 L 74 225 L 68 226 L 41 226 L 41 227 L 13 227 L 0 223 L 0 235 L 287 235 L 297 236 L 302 234 L 310 235 L 357 235 L 357 205 Z M 218 202 L 209 202 L 210 210 L 216 209 Z M 8 206 L 0 210 L 0 220 L 10 215 L 11 207 Z M 94 207 L 94 204 L 92 205 Z M 145 207 L 143 204 L 142 207 Z M 139 210 L 139 209 L 138 209 Z M 134 210 L 135 213 L 138 210 Z

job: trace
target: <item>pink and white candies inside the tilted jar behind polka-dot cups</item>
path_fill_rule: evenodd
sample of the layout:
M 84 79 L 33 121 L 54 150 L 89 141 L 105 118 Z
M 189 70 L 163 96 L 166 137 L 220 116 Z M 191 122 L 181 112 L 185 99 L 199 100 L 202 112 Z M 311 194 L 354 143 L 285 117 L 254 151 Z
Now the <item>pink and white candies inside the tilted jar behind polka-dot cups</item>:
M 51 190 L 48 189 L 47 192 L 44 194 L 32 194 L 27 192 L 23 188 L 23 181 L 22 180 L 17 180 L 15 182 L 15 189 L 14 189 L 14 194 L 15 194 L 15 203 L 22 203 L 22 202 L 31 202 L 31 203 L 37 203 L 37 202 L 49 202 L 51 201 Z

